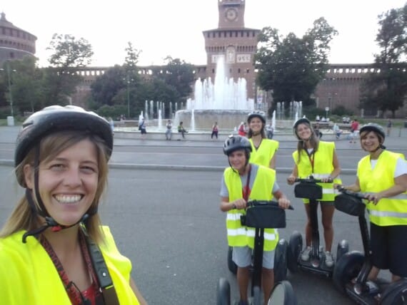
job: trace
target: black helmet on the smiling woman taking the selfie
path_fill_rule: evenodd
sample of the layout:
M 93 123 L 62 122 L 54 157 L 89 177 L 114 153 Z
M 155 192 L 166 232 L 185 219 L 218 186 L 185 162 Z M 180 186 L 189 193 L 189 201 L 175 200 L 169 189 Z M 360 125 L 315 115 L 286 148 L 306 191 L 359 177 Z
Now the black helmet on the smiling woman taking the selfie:
M 41 138 L 62 130 L 85 130 L 99 135 L 106 143 L 108 157 L 111 156 L 113 135 L 106 119 L 78 106 L 52 105 L 30 115 L 24 121 L 16 140 L 14 165 L 19 165 Z

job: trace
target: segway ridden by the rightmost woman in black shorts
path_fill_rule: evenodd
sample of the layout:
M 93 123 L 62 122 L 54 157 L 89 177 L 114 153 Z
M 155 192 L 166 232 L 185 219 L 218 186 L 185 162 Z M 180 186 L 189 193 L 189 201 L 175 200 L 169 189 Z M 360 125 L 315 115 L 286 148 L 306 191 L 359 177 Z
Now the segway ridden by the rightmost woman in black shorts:
M 358 304 L 407 304 L 407 279 L 394 283 L 385 281 L 368 281 L 368 274 L 373 267 L 371 262 L 371 245 L 368 224 L 365 217 L 366 205 L 361 192 L 351 192 L 338 186 L 341 195 L 335 198 L 335 208 L 346 214 L 358 217 L 363 243 L 363 252 L 351 251 L 343 254 L 336 262 L 333 271 L 333 283 L 343 294 Z

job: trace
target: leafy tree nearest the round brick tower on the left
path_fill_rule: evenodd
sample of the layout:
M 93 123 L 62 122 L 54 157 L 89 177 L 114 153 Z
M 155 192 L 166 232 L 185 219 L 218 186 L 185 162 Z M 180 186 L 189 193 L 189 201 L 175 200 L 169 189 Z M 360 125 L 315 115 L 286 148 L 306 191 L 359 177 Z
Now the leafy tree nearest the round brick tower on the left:
M 54 34 L 47 49 L 54 53 L 44 69 L 44 105 L 66 105 L 83 80 L 75 68 L 90 64 L 94 52 L 86 39 L 61 34 Z

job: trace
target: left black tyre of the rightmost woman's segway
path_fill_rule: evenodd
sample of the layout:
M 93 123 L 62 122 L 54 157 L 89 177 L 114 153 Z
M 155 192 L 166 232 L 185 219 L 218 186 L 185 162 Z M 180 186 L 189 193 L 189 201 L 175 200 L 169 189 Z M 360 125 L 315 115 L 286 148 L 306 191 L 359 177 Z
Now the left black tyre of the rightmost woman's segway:
M 364 255 L 358 251 L 347 252 L 342 255 L 333 269 L 333 284 L 335 284 L 336 289 L 346 294 L 346 284 L 358 276 L 364 260 Z

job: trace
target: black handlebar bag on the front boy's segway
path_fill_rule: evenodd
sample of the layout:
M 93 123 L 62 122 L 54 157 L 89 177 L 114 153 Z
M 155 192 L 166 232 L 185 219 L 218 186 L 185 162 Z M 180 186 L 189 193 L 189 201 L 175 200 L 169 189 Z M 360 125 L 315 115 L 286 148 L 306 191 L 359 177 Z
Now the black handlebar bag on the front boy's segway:
M 248 207 L 246 215 L 241 218 L 246 227 L 260 229 L 278 229 L 286 227 L 286 211 L 271 205 L 255 205 Z

